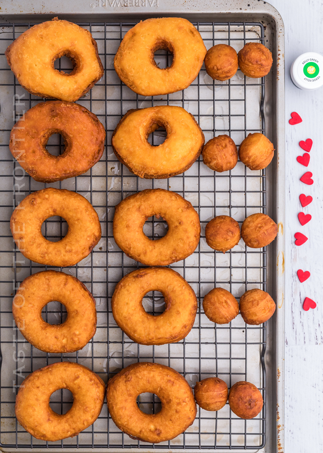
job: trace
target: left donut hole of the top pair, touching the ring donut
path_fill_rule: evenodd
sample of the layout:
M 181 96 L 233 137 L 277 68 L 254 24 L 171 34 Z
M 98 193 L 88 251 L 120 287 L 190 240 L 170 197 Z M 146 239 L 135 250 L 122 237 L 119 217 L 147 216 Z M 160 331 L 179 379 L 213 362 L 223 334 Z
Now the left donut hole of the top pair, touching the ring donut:
M 204 64 L 213 80 L 228 80 L 238 70 L 238 56 L 233 47 L 217 44 L 207 51 Z

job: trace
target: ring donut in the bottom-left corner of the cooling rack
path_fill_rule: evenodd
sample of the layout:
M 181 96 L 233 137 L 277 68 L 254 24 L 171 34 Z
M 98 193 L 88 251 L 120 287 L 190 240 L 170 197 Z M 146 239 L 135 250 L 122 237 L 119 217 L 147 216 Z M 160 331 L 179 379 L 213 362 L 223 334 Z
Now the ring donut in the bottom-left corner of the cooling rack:
M 64 415 L 54 412 L 49 398 L 59 389 L 73 395 L 73 405 Z M 105 397 L 105 384 L 83 365 L 57 362 L 27 376 L 16 398 L 16 417 L 36 439 L 55 440 L 74 437 L 99 417 Z

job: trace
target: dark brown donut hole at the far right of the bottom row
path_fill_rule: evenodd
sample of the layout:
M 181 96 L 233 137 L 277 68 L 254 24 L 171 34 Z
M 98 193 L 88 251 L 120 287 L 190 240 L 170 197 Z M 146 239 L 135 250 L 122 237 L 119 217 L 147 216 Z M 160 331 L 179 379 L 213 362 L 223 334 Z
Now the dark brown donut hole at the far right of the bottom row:
M 229 393 L 231 411 L 240 418 L 256 417 L 262 410 L 263 397 L 254 384 L 246 381 L 235 383 Z

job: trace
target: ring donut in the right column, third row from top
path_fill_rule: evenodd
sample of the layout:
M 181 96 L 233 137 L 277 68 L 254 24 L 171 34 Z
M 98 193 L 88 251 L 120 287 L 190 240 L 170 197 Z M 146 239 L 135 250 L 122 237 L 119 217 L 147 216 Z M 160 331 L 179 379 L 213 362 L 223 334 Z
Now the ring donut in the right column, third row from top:
M 166 236 L 153 241 L 143 233 L 147 218 L 162 216 Z M 192 255 L 201 234 L 200 219 L 192 204 L 164 189 L 147 189 L 122 200 L 113 218 L 113 236 L 130 258 L 148 266 L 167 266 Z

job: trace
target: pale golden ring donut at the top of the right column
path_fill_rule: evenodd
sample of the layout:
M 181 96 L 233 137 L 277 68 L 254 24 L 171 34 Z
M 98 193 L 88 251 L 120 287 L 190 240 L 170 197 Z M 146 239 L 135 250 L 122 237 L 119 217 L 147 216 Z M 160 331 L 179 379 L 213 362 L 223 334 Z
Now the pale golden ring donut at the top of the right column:
M 169 50 L 170 67 L 160 69 L 154 52 Z M 196 79 L 206 47 L 200 33 L 186 19 L 160 17 L 146 19 L 124 36 L 114 58 L 119 78 L 142 96 L 156 96 L 184 90 Z

